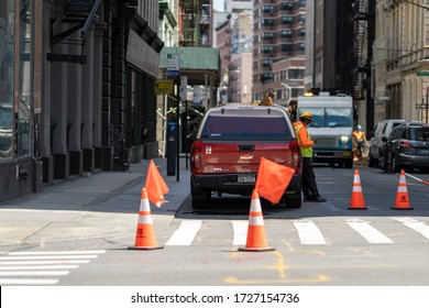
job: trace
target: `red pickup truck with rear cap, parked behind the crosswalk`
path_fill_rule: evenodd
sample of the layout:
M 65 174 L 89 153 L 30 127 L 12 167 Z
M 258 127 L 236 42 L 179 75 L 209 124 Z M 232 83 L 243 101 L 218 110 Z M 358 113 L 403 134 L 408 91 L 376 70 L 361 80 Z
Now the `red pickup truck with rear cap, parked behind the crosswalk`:
M 280 202 L 301 207 L 301 153 L 285 108 L 226 106 L 209 109 L 190 150 L 193 207 L 211 194 L 251 196 L 261 157 L 295 169 Z

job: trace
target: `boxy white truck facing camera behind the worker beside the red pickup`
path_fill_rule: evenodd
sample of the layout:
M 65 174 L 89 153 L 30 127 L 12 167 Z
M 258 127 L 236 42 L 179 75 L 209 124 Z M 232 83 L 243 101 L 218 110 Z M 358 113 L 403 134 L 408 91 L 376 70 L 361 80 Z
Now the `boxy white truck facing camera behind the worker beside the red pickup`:
M 353 167 L 353 99 L 342 94 L 319 91 L 298 97 L 297 114 L 309 111 L 312 122 L 308 132 L 312 140 L 314 162 Z

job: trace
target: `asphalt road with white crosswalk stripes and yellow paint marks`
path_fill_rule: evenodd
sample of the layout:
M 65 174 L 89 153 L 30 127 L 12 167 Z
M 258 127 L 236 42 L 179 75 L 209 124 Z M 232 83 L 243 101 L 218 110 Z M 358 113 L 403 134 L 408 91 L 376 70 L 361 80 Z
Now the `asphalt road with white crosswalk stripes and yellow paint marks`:
M 50 232 L 67 227 L 63 230 L 73 230 L 74 237 L 57 234 L 53 241 L 47 231 L 41 230 L 21 243 L 3 245 L 0 284 L 428 285 L 429 187 L 407 177 L 413 209 L 395 210 L 392 207 L 399 174 L 356 168 L 366 209 L 349 209 L 354 168 L 317 166 L 319 189 L 328 202 L 304 202 L 301 209 L 263 206 L 267 246 L 274 249 L 266 252 L 239 250 L 246 245 L 249 198 L 215 197 L 209 209 L 199 212 L 191 210 L 189 197 L 176 210 L 154 209 L 155 238 L 161 249 L 151 251 L 129 250 L 134 244 L 136 222 L 131 210 L 97 211 L 97 218 L 82 209 L 46 211 L 45 215 L 64 219 L 59 223 L 56 217 L 57 229 Z M 413 175 L 429 180 L 428 174 Z M 127 191 L 134 196 L 138 188 L 138 184 L 130 185 Z M 105 201 L 114 198 L 112 194 Z M 40 212 L 24 215 L 29 216 L 28 223 L 34 223 L 35 217 L 42 220 Z M 91 233 L 94 224 L 89 222 L 100 223 L 101 218 L 103 222 L 98 229 L 102 232 Z M 43 263 L 47 267 L 33 267 Z M 9 267 L 12 264 L 14 267 Z

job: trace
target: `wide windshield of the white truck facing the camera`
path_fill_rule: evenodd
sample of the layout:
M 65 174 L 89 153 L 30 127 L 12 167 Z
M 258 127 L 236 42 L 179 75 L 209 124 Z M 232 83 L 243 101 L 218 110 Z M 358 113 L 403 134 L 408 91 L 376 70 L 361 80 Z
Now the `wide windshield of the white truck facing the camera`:
M 312 114 L 312 128 L 345 128 L 352 125 L 351 108 L 315 108 L 300 110 Z M 300 113 L 301 113 L 300 112 Z

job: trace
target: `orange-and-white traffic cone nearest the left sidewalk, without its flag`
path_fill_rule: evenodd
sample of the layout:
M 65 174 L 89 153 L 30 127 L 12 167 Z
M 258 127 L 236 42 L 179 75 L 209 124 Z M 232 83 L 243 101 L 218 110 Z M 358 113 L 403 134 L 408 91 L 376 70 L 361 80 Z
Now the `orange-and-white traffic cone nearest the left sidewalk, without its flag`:
M 142 189 L 138 231 L 135 234 L 135 246 L 129 246 L 129 250 L 157 250 L 163 249 L 156 244 L 155 231 L 151 216 L 151 206 L 147 199 L 146 189 Z

